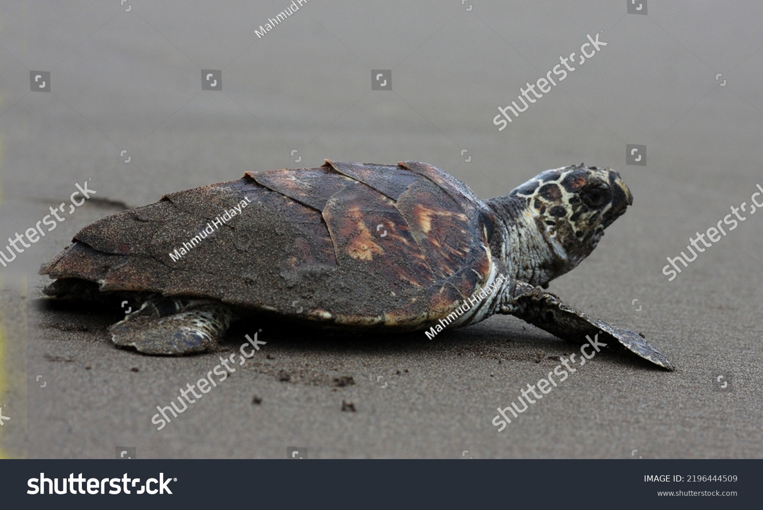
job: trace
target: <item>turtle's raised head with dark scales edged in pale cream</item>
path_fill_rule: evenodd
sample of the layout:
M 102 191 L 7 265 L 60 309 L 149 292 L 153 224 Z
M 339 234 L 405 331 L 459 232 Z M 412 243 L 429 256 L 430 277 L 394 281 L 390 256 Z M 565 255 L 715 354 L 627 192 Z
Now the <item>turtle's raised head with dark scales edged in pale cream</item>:
M 522 205 L 521 222 L 540 252 L 531 280 L 544 287 L 588 257 L 604 229 L 633 204 L 620 174 L 582 163 L 546 170 L 513 189 L 509 199 Z

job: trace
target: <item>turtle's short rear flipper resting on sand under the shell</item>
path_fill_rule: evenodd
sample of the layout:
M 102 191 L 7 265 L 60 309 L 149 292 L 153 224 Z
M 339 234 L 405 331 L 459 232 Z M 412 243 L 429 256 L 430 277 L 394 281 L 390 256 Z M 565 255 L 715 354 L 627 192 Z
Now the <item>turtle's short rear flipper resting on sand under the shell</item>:
M 211 350 L 234 315 L 220 302 L 206 299 L 149 299 L 111 326 L 111 340 L 146 354 L 175 356 Z

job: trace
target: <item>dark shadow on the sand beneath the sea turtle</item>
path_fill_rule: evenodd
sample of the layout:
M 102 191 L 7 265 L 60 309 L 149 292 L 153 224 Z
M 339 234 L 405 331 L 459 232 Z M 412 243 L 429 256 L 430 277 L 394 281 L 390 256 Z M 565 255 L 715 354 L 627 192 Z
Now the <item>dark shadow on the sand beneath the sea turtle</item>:
M 68 299 L 38 298 L 30 301 L 38 311 L 41 328 L 79 331 L 92 335 L 97 341 L 103 341 L 104 336 L 111 337 L 108 328 L 111 324 L 121 321 L 125 312 L 129 310 L 127 305 L 120 308 L 121 302 L 114 299 L 89 301 L 86 305 Z M 446 329 L 430 339 L 424 331 L 403 332 L 388 328 L 347 331 L 339 328 L 316 328 L 311 324 L 293 320 L 253 316 L 233 322 L 213 353 L 188 356 L 216 356 L 219 352 L 239 350 L 242 344 L 248 342 L 246 335 L 253 337 L 255 333 L 259 334 L 259 341 L 268 342 L 267 351 L 270 354 L 302 353 L 318 357 L 330 353 L 368 357 L 435 352 L 453 359 L 472 356 L 499 364 L 534 362 L 553 367 L 559 363 L 560 357 L 580 353 L 578 344 L 563 341 L 513 318 L 498 318 L 465 328 Z M 145 356 L 134 349 L 114 349 Z M 602 350 L 592 362 L 664 371 L 649 361 L 634 357 L 617 347 Z

